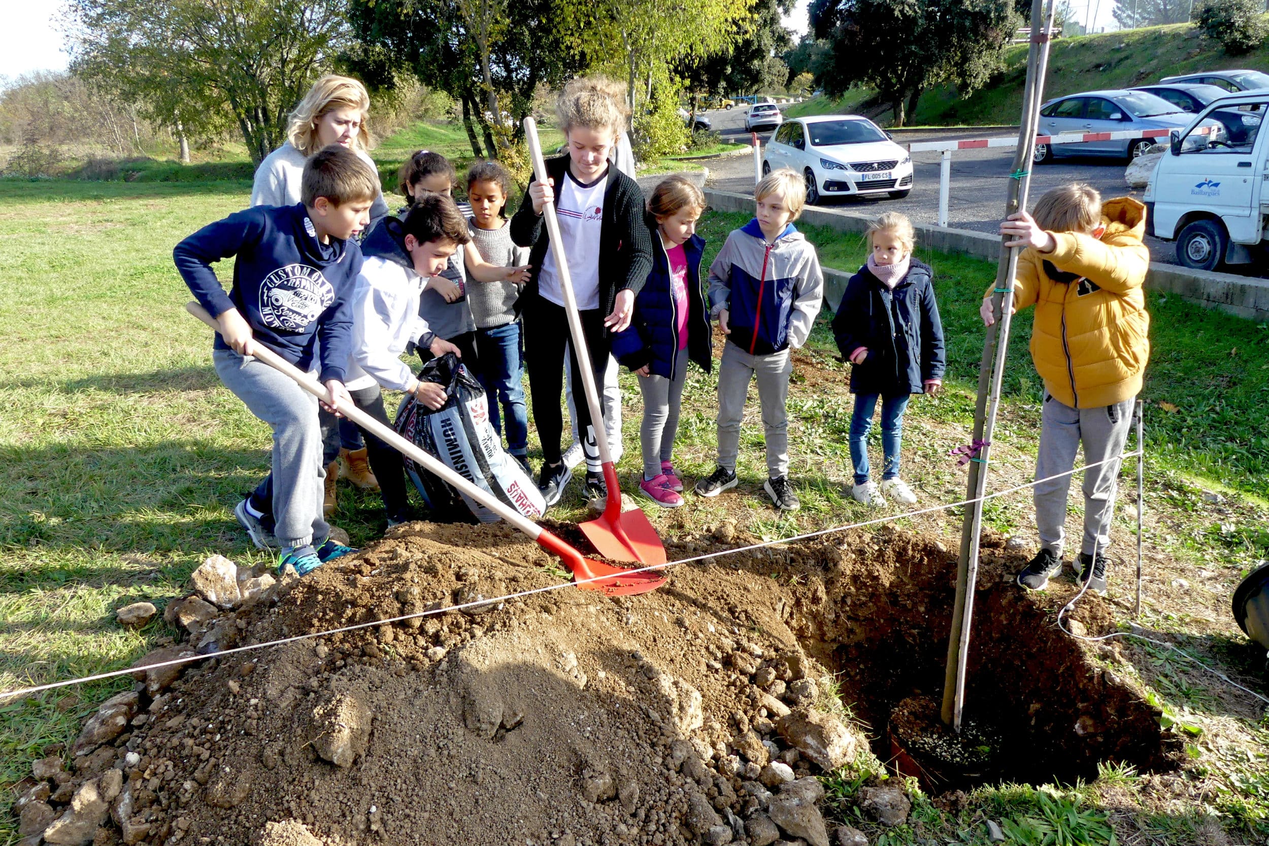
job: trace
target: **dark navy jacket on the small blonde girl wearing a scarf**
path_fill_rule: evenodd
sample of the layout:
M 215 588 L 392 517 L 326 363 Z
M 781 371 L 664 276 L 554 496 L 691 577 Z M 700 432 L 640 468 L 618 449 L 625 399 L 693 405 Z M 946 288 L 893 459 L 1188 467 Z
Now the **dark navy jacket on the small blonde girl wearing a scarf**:
M 868 348 L 864 363 L 850 367 L 850 393 L 924 392 L 925 381 L 942 379 L 947 368 L 934 271 L 912 259 L 907 275 L 891 290 L 867 265 L 859 268 L 832 318 L 832 336 L 846 360 Z

